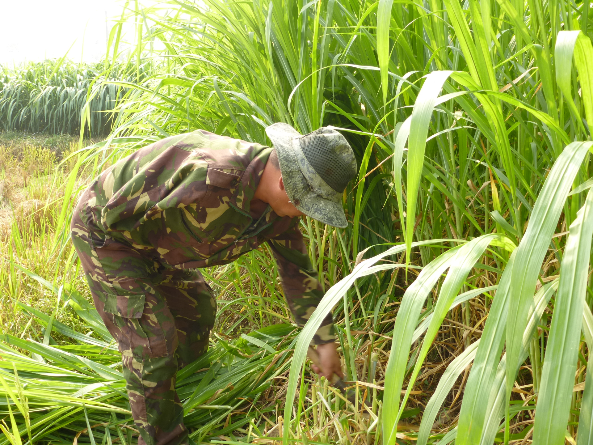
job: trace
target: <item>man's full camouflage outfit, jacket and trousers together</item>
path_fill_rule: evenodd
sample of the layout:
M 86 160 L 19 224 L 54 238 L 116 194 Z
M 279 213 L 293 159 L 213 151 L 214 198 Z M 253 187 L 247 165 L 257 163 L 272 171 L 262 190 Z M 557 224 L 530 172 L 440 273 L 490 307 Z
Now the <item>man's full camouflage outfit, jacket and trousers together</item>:
M 197 268 L 267 242 L 299 326 L 323 297 L 300 218 L 250 214 L 272 148 L 206 131 L 171 136 L 104 171 L 72 217 L 95 307 L 122 352 L 138 443 L 187 443 L 177 370 L 208 349 L 216 301 Z M 327 316 L 313 342 L 334 341 Z

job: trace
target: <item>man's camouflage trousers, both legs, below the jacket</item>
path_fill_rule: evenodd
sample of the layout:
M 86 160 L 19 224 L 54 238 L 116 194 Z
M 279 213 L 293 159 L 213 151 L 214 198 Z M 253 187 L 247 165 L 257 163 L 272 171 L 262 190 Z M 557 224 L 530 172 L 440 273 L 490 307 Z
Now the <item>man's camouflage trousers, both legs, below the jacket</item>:
M 212 290 L 197 269 L 165 270 L 106 234 L 92 194 L 87 190 L 76 206 L 72 242 L 95 307 L 122 353 L 138 444 L 187 444 L 176 374 L 208 349 L 216 315 Z

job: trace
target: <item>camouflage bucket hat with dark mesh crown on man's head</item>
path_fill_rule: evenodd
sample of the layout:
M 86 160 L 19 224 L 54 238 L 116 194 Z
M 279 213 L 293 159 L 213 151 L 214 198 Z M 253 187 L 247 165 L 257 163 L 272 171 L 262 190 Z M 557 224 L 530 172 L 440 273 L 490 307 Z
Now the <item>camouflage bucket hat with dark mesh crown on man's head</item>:
M 346 138 L 329 127 L 301 135 L 282 122 L 267 127 L 266 134 L 292 205 L 314 220 L 346 227 L 342 195 L 358 171 Z

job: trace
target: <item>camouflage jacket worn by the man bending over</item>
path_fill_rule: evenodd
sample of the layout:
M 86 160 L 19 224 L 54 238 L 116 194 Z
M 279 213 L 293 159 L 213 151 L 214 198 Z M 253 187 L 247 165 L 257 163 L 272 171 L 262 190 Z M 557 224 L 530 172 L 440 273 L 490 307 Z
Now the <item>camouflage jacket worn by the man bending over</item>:
M 299 326 L 323 297 L 300 218 L 250 203 L 272 148 L 197 130 L 148 145 L 104 171 L 91 187 L 98 225 L 165 268 L 223 265 L 267 242 Z M 334 340 L 329 314 L 313 342 Z

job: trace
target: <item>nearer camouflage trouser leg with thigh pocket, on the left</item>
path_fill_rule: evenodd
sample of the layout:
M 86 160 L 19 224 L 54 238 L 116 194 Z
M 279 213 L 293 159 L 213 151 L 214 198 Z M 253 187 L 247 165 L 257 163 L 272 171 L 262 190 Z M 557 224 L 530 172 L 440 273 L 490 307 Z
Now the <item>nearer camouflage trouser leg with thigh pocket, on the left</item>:
M 141 433 L 138 444 L 187 443 L 175 392 L 175 319 L 152 284 L 158 265 L 102 233 L 84 203 L 83 196 L 72 218 L 72 241 L 95 307 L 122 352 L 130 409 Z

